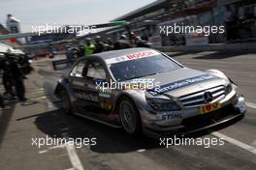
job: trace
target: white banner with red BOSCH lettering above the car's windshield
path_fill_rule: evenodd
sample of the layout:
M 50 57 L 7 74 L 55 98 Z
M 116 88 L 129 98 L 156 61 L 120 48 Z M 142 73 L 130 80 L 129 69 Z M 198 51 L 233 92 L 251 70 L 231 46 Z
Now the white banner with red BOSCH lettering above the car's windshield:
M 159 54 L 157 51 L 154 50 L 148 50 L 148 51 L 142 51 L 142 52 L 136 52 L 131 54 L 126 54 L 125 56 L 119 56 L 112 59 L 106 60 L 107 64 L 114 64 L 119 62 L 125 62 L 129 60 L 136 60 L 144 57 L 150 57 Z

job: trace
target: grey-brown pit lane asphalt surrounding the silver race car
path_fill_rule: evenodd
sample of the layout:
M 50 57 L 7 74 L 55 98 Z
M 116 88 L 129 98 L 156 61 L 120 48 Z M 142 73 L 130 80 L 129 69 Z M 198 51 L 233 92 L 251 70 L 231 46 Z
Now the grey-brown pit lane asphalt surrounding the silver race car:
M 254 52 L 168 53 L 187 67 L 218 69 L 239 86 L 240 93 L 256 102 L 256 54 Z M 40 68 L 39 68 L 40 69 Z M 43 68 L 44 69 L 44 68 Z M 46 68 L 45 68 L 46 69 Z M 122 129 L 109 128 L 76 116 L 67 116 L 52 95 L 59 75 L 34 72 L 26 81 L 26 103 L 12 103 L 1 113 L 0 169 L 255 169 L 256 155 L 225 142 L 224 146 L 159 146 L 159 140 L 132 137 Z M 248 107 L 246 116 L 218 132 L 256 148 L 256 110 Z M 97 137 L 97 145 L 76 149 L 75 159 L 63 147 L 32 146 L 31 138 Z M 214 135 L 196 134 L 202 138 Z M 196 137 L 195 136 L 195 137 Z M 74 154 L 74 153 L 73 153 Z M 76 157 L 76 155 L 78 157 Z M 74 157 L 73 157 L 74 158 Z M 79 158 L 79 161 L 78 161 Z M 75 162 L 74 162 L 75 160 Z M 77 163 L 77 164 L 76 164 Z

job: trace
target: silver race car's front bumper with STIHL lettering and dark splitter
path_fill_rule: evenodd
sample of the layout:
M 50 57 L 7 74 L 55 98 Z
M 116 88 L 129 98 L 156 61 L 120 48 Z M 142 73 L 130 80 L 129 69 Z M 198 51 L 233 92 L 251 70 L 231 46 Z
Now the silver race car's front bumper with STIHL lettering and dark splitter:
M 245 99 L 234 91 L 221 101 L 222 107 L 207 114 L 200 114 L 199 107 L 187 108 L 178 112 L 162 113 L 152 116 L 141 113 L 143 128 L 150 131 L 184 132 L 209 128 L 242 117 L 246 112 Z M 171 119 L 163 120 L 163 114 L 175 114 Z M 148 116 L 149 115 L 149 116 Z

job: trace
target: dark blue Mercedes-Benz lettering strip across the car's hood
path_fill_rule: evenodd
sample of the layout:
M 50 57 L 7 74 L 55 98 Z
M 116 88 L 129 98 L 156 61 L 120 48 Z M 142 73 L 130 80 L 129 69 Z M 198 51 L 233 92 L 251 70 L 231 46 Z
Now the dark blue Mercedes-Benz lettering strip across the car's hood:
M 157 96 L 157 95 L 160 95 L 160 94 L 164 94 L 166 92 L 176 90 L 176 89 L 181 88 L 181 87 L 189 86 L 191 84 L 203 82 L 203 81 L 210 80 L 210 79 L 216 79 L 216 78 L 218 78 L 218 77 L 213 76 L 213 75 L 209 75 L 209 74 L 200 75 L 200 76 L 196 76 L 196 77 L 192 77 L 192 78 L 179 80 L 179 81 L 176 81 L 174 83 L 166 84 L 166 85 L 160 86 L 158 88 L 148 90 L 147 92 L 149 94 L 151 94 L 152 96 Z

